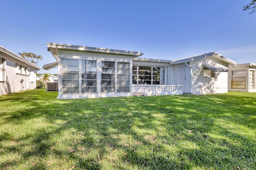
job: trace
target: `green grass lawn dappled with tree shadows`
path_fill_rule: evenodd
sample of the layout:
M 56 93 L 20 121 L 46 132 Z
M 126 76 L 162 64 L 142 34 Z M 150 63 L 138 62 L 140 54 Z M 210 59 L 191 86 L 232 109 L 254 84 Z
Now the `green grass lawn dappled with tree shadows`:
M 256 93 L 0 96 L 0 169 L 256 169 Z

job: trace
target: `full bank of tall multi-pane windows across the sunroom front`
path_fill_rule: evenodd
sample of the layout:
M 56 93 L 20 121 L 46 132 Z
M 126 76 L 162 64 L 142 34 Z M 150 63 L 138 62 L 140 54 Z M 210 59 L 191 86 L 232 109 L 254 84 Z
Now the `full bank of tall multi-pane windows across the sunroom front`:
M 96 60 L 62 59 L 62 93 L 130 92 L 130 63 Z M 97 73 L 101 70 L 101 79 Z

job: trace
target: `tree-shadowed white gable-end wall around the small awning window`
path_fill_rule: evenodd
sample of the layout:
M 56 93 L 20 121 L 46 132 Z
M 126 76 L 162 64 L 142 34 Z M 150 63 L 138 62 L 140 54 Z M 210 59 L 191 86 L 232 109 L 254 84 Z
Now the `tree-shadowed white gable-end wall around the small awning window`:
M 191 93 L 227 93 L 228 73 L 215 72 L 215 77 L 204 77 L 204 65 L 216 65 L 228 69 L 228 63 L 215 57 L 206 57 L 191 61 Z

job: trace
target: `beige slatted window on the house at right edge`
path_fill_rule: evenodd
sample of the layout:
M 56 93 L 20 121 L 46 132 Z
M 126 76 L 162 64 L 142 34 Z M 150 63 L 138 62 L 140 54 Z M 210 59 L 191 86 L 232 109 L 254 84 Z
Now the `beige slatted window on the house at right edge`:
M 232 89 L 245 89 L 245 70 L 232 71 Z

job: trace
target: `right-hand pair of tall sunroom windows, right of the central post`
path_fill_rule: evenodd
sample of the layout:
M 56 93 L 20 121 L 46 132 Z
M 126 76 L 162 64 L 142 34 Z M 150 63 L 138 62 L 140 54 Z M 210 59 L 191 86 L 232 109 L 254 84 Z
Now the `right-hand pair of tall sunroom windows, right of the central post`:
M 101 91 L 129 92 L 130 63 L 102 61 Z

